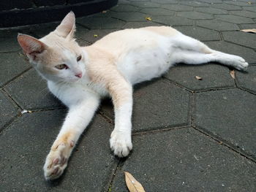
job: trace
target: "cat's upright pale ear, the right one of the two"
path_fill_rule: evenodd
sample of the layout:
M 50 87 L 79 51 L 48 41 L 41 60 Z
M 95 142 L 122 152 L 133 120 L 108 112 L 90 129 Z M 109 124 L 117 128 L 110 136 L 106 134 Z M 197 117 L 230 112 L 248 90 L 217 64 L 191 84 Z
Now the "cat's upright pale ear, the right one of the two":
M 56 34 L 61 37 L 72 39 L 75 33 L 75 14 L 69 12 L 61 21 L 61 24 L 55 30 Z

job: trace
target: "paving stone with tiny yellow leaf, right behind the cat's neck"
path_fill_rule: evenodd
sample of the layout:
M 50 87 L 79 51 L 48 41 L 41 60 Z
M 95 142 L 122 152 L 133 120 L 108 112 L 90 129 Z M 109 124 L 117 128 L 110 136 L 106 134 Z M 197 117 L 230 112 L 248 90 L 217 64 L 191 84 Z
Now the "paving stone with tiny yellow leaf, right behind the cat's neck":
M 110 34 L 113 31 L 117 31 L 117 29 L 93 29 L 90 30 L 87 33 L 80 34 L 79 39 L 82 39 L 83 41 L 94 43 L 97 40 L 101 39 L 102 37 L 105 37 L 107 34 Z M 97 36 L 97 37 L 95 37 Z

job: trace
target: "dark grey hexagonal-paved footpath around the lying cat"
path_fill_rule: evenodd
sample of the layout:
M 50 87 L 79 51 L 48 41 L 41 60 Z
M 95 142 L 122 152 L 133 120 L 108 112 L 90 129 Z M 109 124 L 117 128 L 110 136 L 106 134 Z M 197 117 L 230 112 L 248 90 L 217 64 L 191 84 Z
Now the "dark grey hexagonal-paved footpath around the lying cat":
M 235 70 L 233 79 L 226 66 L 180 64 L 136 86 L 134 150 L 126 159 L 110 151 L 113 106 L 105 100 L 63 177 L 46 182 L 42 166 L 67 110 L 16 37 L 43 37 L 57 25 L 0 31 L 0 191 L 121 192 L 127 191 L 123 171 L 152 192 L 256 191 L 256 34 L 240 31 L 256 28 L 255 0 L 120 0 L 107 12 L 78 18 L 80 45 L 122 28 L 166 25 L 244 57 L 249 68 Z

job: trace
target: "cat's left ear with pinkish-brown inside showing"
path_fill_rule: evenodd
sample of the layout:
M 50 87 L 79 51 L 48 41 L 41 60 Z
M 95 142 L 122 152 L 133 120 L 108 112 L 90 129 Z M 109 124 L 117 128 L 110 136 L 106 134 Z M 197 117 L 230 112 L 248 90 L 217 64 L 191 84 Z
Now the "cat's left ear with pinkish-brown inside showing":
M 26 34 L 18 34 L 18 42 L 24 53 L 33 58 L 37 57 L 39 53 L 42 53 L 47 48 L 47 45 L 43 42 Z

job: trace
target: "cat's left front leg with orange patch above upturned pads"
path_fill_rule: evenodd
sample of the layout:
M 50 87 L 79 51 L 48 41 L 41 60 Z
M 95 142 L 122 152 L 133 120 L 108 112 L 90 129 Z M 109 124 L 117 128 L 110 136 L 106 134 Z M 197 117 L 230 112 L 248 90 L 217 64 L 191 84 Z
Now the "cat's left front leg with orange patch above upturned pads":
M 88 126 L 94 112 L 99 106 L 99 98 L 91 96 L 69 107 L 58 137 L 50 148 L 45 160 L 44 172 L 46 180 L 55 180 L 60 177 L 67 167 L 67 161 L 78 141 L 80 134 Z

